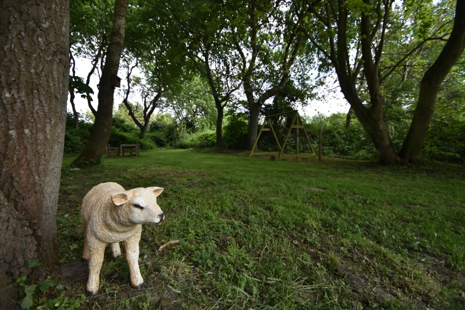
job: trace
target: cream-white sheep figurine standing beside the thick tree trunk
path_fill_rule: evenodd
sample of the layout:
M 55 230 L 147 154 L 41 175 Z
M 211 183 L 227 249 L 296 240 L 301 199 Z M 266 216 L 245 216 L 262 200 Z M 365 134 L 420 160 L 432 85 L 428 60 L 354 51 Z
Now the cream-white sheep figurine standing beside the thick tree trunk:
M 124 241 L 131 285 L 140 289 L 144 280 L 139 270 L 139 241 L 141 224 L 159 224 L 165 219 L 157 204 L 160 187 L 126 190 L 118 183 L 107 182 L 94 186 L 84 197 L 81 220 L 84 224 L 82 258 L 89 261 L 87 293 L 99 291 L 99 275 L 105 247 L 111 243 L 113 257 L 121 255 Z

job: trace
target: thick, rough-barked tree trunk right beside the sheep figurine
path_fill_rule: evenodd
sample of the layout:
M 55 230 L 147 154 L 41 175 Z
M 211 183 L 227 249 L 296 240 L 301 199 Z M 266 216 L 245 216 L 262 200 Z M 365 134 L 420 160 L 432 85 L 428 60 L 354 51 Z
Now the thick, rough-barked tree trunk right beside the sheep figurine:
M 69 84 L 69 3 L 0 5 L 0 309 L 27 259 L 57 257 L 56 211 Z

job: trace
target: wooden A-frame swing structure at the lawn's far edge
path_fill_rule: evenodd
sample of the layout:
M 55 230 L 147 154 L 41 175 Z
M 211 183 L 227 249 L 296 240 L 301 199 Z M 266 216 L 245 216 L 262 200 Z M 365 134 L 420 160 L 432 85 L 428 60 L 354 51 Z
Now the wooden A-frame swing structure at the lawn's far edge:
M 278 141 L 278 137 L 276 136 L 276 133 L 274 132 L 273 125 L 270 119 L 272 117 L 286 115 L 286 114 L 293 114 L 293 116 L 292 116 L 291 126 L 288 128 L 286 138 L 284 139 L 283 145 L 281 146 L 281 144 Z M 268 124 L 269 127 L 265 127 L 266 124 Z M 289 139 L 292 129 L 296 129 L 296 148 L 295 148 L 296 154 L 284 154 L 284 148 L 286 147 L 287 139 Z M 310 150 L 312 151 L 312 153 L 303 153 L 303 154 L 300 153 L 299 154 L 299 136 L 301 136 L 301 134 L 299 134 L 299 129 L 302 129 L 304 131 L 304 134 L 302 135 L 305 136 L 308 146 L 310 147 Z M 259 142 L 260 135 L 263 131 L 272 132 L 274 139 L 276 140 L 276 143 L 278 144 L 278 148 L 279 148 L 278 152 L 254 152 L 255 148 L 257 147 L 257 143 Z M 307 134 L 304 123 L 302 122 L 302 119 L 300 118 L 299 112 L 297 110 L 265 116 L 265 120 L 263 121 L 263 125 L 260 128 L 259 134 L 257 135 L 257 139 L 255 140 L 255 144 L 253 145 L 249 158 L 252 157 L 252 155 L 277 155 L 278 159 L 316 156 L 315 151 L 313 150 L 313 147 L 312 147 L 312 143 L 310 143 L 310 139 L 308 138 L 309 135 L 318 135 L 318 134 Z

